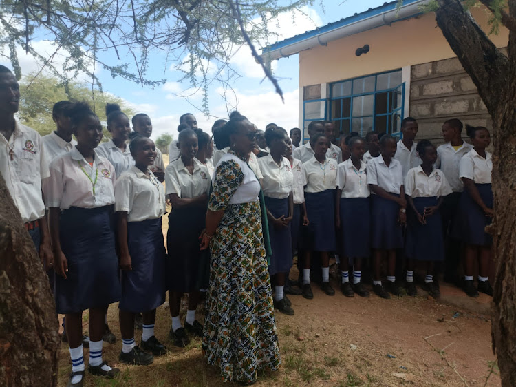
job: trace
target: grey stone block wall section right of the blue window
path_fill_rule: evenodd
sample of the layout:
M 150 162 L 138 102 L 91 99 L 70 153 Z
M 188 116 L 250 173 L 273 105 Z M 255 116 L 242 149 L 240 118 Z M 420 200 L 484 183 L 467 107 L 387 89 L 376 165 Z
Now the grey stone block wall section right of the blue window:
M 418 120 L 417 138 L 436 144 L 442 143 L 442 124 L 449 118 L 491 129 L 491 116 L 457 58 L 411 67 L 410 116 Z

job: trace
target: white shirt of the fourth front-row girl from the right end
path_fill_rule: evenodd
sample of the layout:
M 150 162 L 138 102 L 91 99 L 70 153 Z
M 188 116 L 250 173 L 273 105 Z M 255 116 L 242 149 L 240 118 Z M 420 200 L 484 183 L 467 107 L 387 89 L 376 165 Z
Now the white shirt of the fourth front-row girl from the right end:
M 351 158 L 338 165 L 337 187 L 341 189 L 341 198 L 356 199 L 369 198 L 367 185 L 367 164 L 360 162 L 360 169 L 356 169 Z

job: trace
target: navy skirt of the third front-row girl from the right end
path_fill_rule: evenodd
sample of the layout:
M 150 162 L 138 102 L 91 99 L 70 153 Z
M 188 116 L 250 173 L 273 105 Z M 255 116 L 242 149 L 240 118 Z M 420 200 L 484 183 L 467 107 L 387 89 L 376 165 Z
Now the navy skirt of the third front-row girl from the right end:
M 403 229 L 398 224 L 400 206 L 392 200 L 372 197 L 372 249 L 401 249 L 403 247 Z

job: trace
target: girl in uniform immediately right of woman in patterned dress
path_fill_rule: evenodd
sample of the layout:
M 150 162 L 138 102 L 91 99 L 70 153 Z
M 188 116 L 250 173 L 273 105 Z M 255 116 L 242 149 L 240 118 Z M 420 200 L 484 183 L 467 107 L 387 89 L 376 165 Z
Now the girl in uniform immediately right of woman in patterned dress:
M 292 237 L 290 222 L 294 212 L 292 201 L 292 169 L 283 156 L 288 148 L 288 134 L 282 127 L 271 126 L 265 132 L 270 154 L 258 159 L 264 174 L 262 189 L 269 224 L 269 238 L 272 257 L 269 275 L 275 284 L 275 308 L 286 315 L 294 315 L 288 298 L 284 295 L 287 274 L 292 267 Z

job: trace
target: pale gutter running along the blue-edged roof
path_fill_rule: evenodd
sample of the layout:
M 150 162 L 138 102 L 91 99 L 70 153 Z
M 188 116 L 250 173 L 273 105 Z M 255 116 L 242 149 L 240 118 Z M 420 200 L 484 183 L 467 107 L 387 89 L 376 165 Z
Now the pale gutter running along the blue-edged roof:
M 400 21 L 420 13 L 420 6 L 427 3 L 429 3 L 429 0 L 415 1 L 407 4 L 406 6 L 401 6 L 399 9 L 394 8 L 392 10 L 376 14 L 372 17 L 368 17 L 367 19 L 343 25 L 335 28 L 334 30 L 321 32 L 321 34 L 317 34 L 316 36 L 311 36 L 307 39 L 303 39 L 280 48 L 272 49 L 270 51 L 268 51 L 268 48 L 264 48 L 264 53 L 261 54 L 261 57 L 265 61 L 273 61 L 275 59 L 298 54 L 301 51 L 314 48 L 318 45 L 327 45 L 328 42 L 344 38 L 345 36 L 372 30 L 373 28 L 382 27 L 383 25 L 390 25 L 394 21 Z

